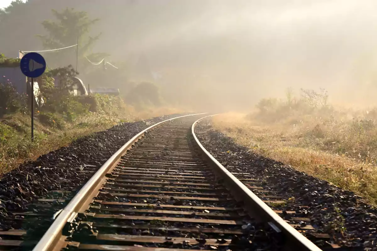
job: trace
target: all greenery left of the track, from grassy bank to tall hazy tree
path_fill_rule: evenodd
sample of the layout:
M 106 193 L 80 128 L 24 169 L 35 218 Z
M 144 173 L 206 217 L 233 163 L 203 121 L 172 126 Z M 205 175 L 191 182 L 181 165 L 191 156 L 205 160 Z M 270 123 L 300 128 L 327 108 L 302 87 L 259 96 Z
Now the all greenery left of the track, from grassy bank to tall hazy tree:
M 6 21 L 22 11 L 27 3 L 12 2 L 0 10 L 0 20 Z M 152 82 L 145 82 L 144 76 L 127 81 L 123 67 L 106 70 L 104 64 L 93 65 L 110 56 L 106 52 L 93 53 L 93 46 L 101 33 L 91 35 L 92 19 L 85 11 L 66 8 L 52 10 L 54 20 L 45 20 L 42 26 L 45 35 L 37 35 L 44 49 L 72 46 L 78 42 L 79 77 L 86 78 L 86 87 L 112 87 L 121 89 L 120 96 L 91 94 L 73 96 L 70 90 L 72 79 L 78 75 L 76 51 L 58 50 L 44 54 L 48 69 L 35 81 L 39 93 L 35 100 L 34 142 L 31 142 L 31 95 L 17 93 L 15 83 L 8 76 L 0 76 L 0 175 L 14 169 L 27 160 L 35 160 L 42 154 L 68 145 L 78 137 L 102 131 L 121 122 L 132 122 L 151 117 L 178 113 L 179 109 L 161 98 L 160 88 Z M 68 20 L 68 21 L 67 21 Z M 1 53 L 0 67 L 19 67 L 20 59 L 7 58 Z M 102 60 L 104 62 L 104 60 Z M 75 63 L 74 62 L 74 63 Z M 54 79 L 59 82 L 55 86 Z

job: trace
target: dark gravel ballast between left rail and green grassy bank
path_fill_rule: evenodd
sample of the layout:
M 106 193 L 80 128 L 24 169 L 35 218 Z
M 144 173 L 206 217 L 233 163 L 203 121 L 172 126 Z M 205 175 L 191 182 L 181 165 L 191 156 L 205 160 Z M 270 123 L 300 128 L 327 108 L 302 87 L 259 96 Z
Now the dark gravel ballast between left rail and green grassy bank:
M 186 115 L 186 114 L 183 114 Z M 27 229 L 22 214 L 31 211 L 38 198 L 54 198 L 52 191 L 80 189 L 106 160 L 138 132 L 166 119 L 182 116 L 172 114 L 130 123 L 79 138 L 69 146 L 41 155 L 6 173 L 0 180 L 0 228 Z M 74 194 L 67 195 L 72 198 Z M 61 195 L 60 197 L 61 198 Z M 34 210 L 36 211 L 36 210 Z

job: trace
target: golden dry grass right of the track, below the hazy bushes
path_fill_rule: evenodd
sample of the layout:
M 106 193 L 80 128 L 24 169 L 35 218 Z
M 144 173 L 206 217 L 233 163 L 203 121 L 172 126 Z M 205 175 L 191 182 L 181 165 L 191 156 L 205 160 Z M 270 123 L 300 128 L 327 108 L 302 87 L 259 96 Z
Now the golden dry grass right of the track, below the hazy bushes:
M 377 129 L 373 123 L 365 125 L 365 120 L 351 117 L 333 118 L 330 123 L 323 117 L 297 114 L 267 123 L 258 115 L 221 114 L 212 123 L 215 129 L 258 154 L 377 204 Z

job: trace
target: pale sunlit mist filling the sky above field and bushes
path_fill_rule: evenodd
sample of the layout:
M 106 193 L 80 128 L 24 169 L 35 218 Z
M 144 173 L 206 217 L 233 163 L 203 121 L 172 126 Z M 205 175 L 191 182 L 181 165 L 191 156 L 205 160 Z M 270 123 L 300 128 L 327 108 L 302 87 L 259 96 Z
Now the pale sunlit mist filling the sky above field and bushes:
M 11 18 L 0 15 L 6 56 L 43 49 L 35 37 L 44 34 L 41 22 L 52 18 L 51 9 L 69 7 L 100 18 L 91 31 L 102 32 L 93 51 L 124 66 L 127 81 L 141 80 L 132 76 L 135 67 L 158 73 L 154 82 L 167 99 L 249 110 L 293 87 L 325 88 L 331 102 L 344 105 L 377 104 L 374 0 L 29 0 L 25 6 Z

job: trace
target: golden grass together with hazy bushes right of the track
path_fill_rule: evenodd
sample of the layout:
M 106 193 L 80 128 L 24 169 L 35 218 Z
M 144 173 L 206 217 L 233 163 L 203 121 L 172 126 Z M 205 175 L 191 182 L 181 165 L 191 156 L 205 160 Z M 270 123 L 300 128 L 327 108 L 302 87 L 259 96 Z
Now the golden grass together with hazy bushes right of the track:
M 377 109 L 336 108 L 325 90 L 287 91 L 249 114 L 213 118 L 213 126 L 252 151 L 377 204 Z

